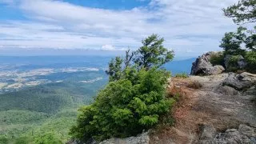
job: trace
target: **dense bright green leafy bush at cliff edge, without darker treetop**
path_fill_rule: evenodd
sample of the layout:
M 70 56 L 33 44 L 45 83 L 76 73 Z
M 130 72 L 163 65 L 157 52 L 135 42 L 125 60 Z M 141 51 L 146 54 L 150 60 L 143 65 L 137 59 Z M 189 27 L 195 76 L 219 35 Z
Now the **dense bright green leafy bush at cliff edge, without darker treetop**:
M 70 130 L 75 138 L 102 141 L 128 137 L 156 125 L 170 110 L 174 98 L 166 98 L 166 70 L 139 70 L 137 80 L 122 78 L 101 90 L 95 102 L 79 111 L 77 126 Z

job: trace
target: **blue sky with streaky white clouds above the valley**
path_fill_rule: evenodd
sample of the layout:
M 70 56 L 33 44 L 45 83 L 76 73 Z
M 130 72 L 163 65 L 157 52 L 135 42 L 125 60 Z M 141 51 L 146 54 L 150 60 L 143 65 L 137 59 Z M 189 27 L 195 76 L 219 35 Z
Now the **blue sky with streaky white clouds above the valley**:
M 220 50 L 237 0 L 0 0 L 0 49 L 119 51 L 159 34 L 177 56 Z

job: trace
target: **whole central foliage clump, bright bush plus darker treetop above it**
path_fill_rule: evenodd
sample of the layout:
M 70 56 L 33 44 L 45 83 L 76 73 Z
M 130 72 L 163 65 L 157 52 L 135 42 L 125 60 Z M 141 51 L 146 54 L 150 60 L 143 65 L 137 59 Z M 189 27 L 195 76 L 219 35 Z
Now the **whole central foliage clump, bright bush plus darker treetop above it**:
M 98 93 L 95 102 L 80 108 L 77 125 L 70 134 L 86 142 L 90 138 L 124 138 L 148 130 L 159 122 L 175 102 L 166 98 L 165 85 L 170 73 L 158 69 L 173 58 L 162 46 L 163 38 L 153 34 L 143 46 L 126 58 L 109 63 L 110 82 Z

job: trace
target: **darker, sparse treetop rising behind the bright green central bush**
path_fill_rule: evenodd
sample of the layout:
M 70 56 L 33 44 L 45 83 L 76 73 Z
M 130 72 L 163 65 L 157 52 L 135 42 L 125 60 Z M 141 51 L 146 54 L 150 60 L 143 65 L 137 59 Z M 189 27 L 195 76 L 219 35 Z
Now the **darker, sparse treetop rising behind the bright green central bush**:
M 142 47 L 136 51 L 126 51 L 126 57 L 116 57 L 109 62 L 106 74 L 110 75 L 110 82 L 120 78 L 134 75 L 136 70 L 150 70 L 152 67 L 160 67 L 174 58 L 174 52 L 165 48 L 162 43 L 164 38 L 152 34 L 142 40 Z M 134 77 L 131 77 L 134 78 Z

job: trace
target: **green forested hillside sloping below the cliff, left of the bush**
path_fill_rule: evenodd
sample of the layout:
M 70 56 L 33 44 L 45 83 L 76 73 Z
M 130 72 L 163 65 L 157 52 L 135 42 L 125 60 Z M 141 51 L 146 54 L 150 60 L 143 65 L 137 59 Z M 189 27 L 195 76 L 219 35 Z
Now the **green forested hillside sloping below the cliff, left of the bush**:
M 103 71 L 53 74 L 42 77 L 62 79 L 62 82 L 1 94 L 0 143 L 40 142 L 40 138 L 48 137 L 66 142 L 77 108 L 92 102 L 107 79 L 80 81 L 102 76 Z

